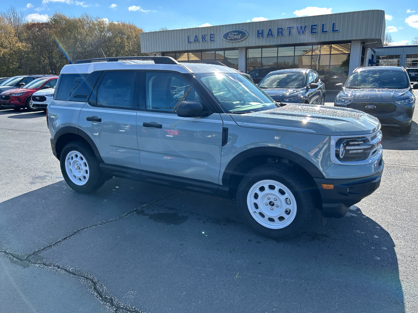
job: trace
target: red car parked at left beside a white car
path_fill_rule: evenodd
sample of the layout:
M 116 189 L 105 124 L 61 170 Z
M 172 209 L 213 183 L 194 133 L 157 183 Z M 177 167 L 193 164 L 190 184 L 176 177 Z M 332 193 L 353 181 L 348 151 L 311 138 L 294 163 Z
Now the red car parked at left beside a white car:
M 0 93 L 0 106 L 7 109 L 18 111 L 20 109 L 28 108 L 30 111 L 36 111 L 32 108 L 31 96 L 34 92 L 52 88 L 56 85 L 57 76 L 38 78 L 31 81 L 23 88 L 15 88 L 3 91 Z M 51 92 L 54 91 L 51 89 Z

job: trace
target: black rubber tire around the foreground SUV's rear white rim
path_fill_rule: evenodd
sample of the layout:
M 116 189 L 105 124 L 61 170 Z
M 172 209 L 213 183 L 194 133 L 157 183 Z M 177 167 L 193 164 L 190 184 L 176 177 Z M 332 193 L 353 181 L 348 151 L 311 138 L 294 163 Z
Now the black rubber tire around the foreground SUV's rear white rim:
M 87 182 L 85 182 L 85 184 L 83 185 L 77 185 L 74 182 L 72 182 L 67 174 L 65 168 L 67 162 L 66 158 L 71 151 L 77 151 L 80 154 L 82 154 L 85 158 L 85 161 L 88 164 L 89 177 L 87 179 Z M 83 142 L 72 141 L 64 146 L 60 155 L 60 166 L 62 175 L 64 176 L 66 183 L 71 187 L 71 189 L 73 189 L 76 192 L 84 194 L 93 192 L 102 187 L 102 185 L 105 182 L 104 175 L 100 170 L 99 161 L 97 160 L 97 157 L 95 156 L 90 146 Z

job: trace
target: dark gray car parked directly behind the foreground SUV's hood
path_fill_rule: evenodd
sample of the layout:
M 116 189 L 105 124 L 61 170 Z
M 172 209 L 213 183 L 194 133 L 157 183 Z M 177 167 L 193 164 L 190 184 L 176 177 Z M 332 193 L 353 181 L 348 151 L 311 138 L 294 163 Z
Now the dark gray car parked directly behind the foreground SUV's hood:
M 258 86 L 275 101 L 320 105 L 325 102 L 325 85 L 314 70 L 273 71 Z

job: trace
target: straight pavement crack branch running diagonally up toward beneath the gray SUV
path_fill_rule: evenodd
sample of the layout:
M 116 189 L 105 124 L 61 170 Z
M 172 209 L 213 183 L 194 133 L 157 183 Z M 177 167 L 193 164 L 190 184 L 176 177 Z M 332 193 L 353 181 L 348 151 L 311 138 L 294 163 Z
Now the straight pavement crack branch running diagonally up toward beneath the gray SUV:
M 42 251 L 51 249 L 52 247 L 54 247 L 56 245 L 59 245 L 61 242 L 64 242 L 65 240 L 67 240 L 67 239 L 69 239 L 69 238 L 77 235 L 79 232 L 82 232 L 84 230 L 88 230 L 88 229 L 93 228 L 93 227 L 103 226 L 103 225 L 106 225 L 106 224 L 109 224 L 109 223 L 112 223 L 112 222 L 116 222 L 116 221 L 119 221 L 119 220 L 123 220 L 124 218 L 128 217 L 129 215 L 132 215 L 134 213 L 140 213 L 141 210 L 146 209 L 146 208 L 150 207 L 151 205 L 153 205 L 153 204 L 155 204 L 157 202 L 160 202 L 163 199 L 167 199 L 167 198 L 169 198 L 171 196 L 174 196 L 176 194 L 180 194 L 181 192 L 183 192 L 183 191 L 181 190 L 181 191 L 172 192 L 170 194 L 166 194 L 165 196 L 160 197 L 158 199 L 155 199 L 152 202 L 145 203 L 145 204 L 143 204 L 143 205 L 141 205 L 141 206 L 139 206 L 139 207 L 137 207 L 137 208 L 135 208 L 133 210 L 127 211 L 127 212 L 123 213 L 122 215 L 119 215 L 118 217 L 114 217 L 114 218 L 111 218 L 110 220 L 106 220 L 106 221 L 102 221 L 102 222 L 97 222 L 97 223 L 94 223 L 92 225 L 84 226 L 84 227 L 81 227 L 81 228 L 79 228 L 77 230 L 74 230 L 73 232 L 71 232 L 70 234 L 66 235 L 65 237 L 62 237 L 62 238 L 60 238 L 58 240 L 55 240 L 54 242 L 51 242 L 50 244 L 48 244 L 48 245 L 46 245 L 44 247 L 41 247 L 41 248 L 38 248 L 38 249 L 32 251 L 31 253 L 29 253 L 28 255 L 26 255 L 26 257 L 24 257 L 21 261 L 28 260 L 31 256 L 36 255 L 39 252 L 42 252 Z

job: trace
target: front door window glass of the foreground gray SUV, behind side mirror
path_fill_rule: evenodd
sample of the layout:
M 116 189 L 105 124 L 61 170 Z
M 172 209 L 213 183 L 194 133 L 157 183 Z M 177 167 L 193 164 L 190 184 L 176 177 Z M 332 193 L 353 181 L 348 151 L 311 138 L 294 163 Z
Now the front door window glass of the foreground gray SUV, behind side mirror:
M 146 73 L 145 92 L 147 110 L 175 113 L 179 101 L 199 101 L 195 88 L 181 76 L 172 73 Z

